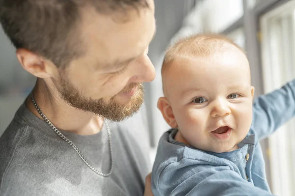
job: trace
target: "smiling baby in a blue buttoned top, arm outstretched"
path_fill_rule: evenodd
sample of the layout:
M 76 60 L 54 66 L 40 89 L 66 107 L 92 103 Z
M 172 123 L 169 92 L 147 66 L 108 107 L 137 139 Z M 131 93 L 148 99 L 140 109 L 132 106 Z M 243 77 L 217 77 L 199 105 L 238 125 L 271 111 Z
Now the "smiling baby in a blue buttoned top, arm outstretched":
M 172 129 L 158 144 L 153 194 L 270 196 L 259 141 L 295 116 L 295 80 L 252 104 L 243 50 L 195 35 L 168 49 L 162 81 L 158 108 Z

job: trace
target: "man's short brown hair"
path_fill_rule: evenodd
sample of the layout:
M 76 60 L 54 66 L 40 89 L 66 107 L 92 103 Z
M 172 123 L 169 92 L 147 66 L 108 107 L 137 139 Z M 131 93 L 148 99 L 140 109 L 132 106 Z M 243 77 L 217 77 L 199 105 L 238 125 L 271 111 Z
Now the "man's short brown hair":
M 81 55 L 78 21 L 82 6 L 99 13 L 148 7 L 147 0 L 0 0 L 0 23 L 16 49 L 28 49 L 66 66 Z

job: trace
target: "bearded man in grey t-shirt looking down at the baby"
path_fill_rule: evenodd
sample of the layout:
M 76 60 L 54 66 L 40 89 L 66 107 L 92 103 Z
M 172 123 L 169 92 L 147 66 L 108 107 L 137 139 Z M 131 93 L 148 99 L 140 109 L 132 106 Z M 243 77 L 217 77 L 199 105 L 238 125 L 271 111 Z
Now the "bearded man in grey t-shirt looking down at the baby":
M 0 138 L 0 195 L 143 195 L 153 0 L 0 0 L 0 22 L 37 77 Z

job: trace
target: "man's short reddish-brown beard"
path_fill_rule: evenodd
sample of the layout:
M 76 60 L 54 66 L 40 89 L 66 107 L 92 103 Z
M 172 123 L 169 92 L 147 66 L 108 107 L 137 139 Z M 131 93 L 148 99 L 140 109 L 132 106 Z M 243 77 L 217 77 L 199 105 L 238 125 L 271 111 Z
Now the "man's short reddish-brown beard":
M 128 103 L 120 104 L 116 101 L 116 98 L 120 94 L 129 92 L 134 87 L 137 87 L 137 91 Z M 132 83 L 129 86 L 126 86 L 121 92 L 110 98 L 108 102 L 104 101 L 103 98 L 92 99 L 83 97 L 73 85 L 64 79 L 61 80 L 59 93 L 61 98 L 72 107 L 94 113 L 95 115 L 116 122 L 123 121 L 127 117 L 136 113 L 140 109 L 144 100 L 144 88 L 140 83 Z

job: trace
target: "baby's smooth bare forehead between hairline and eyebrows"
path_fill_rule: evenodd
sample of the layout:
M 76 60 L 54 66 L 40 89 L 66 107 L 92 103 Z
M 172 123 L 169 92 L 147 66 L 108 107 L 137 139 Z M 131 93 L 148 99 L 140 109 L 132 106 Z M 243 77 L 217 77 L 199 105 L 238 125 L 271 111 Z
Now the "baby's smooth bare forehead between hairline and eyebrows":
M 215 80 L 211 75 L 239 80 L 242 75 L 250 74 L 248 60 L 242 55 L 244 54 L 239 55 L 236 51 L 225 51 L 208 56 L 177 56 L 165 65 L 166 70 L 162 74 L 163 84 L 171 86 L 177 81 L 206 83 L 210 78 L 212 81 Z

